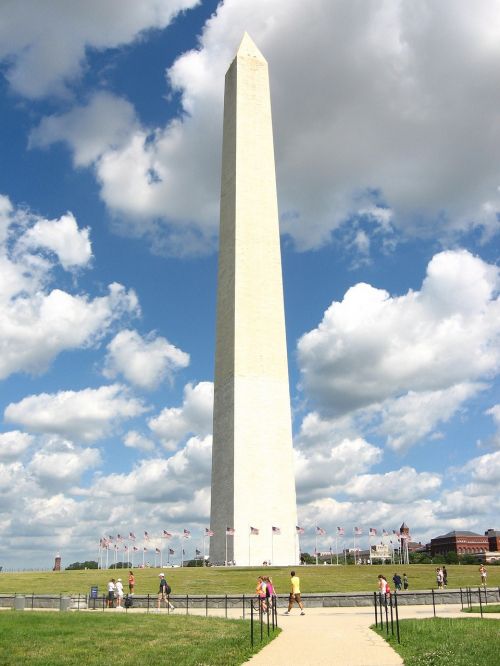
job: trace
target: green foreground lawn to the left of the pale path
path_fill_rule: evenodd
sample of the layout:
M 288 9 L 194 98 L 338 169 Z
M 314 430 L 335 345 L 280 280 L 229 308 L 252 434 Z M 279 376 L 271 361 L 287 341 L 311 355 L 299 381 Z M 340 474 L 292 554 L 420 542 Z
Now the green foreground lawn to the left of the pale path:
M 250 624 L 242 620 L 0 613 L 1 666 L 236 666 L 266 643 L 257 641 L 252 650 Z

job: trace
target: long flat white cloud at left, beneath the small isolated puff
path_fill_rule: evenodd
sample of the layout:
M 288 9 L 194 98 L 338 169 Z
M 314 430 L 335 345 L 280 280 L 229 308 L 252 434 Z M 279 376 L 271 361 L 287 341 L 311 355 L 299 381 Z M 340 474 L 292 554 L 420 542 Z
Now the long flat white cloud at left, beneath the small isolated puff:
M 28 396 L 7 405 L 4 419 L 22 424 L 30 432 L 90 442 L 107 434 L 112 425 L 145 411 L 143 403 L 131 397 L 126 387 L 112 384 Z

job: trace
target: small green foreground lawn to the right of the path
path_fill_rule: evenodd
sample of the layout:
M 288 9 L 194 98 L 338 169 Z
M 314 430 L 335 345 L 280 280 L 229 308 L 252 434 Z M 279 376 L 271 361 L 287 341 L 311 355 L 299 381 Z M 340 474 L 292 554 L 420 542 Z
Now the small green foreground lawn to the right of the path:
M 429 618 L 401 620 L 401 644 L 380 635 L 398 652 L 405 666 L 484 666 L 498 664 L 500 620 Z

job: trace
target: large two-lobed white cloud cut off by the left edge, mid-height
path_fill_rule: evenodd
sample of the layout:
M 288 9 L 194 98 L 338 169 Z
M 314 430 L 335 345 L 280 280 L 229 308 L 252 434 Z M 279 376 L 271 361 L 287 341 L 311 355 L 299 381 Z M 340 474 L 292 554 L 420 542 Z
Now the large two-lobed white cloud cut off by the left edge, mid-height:
M 0 379 L 43 372 L 62 351 L 90 347 L 139 313 L 134 291 L 117 283 L 96 298 L 50 288 L 55 267 L 85 267 L 91 257 L 89 230 L 71 213 L 47 220 L 0 199 Z

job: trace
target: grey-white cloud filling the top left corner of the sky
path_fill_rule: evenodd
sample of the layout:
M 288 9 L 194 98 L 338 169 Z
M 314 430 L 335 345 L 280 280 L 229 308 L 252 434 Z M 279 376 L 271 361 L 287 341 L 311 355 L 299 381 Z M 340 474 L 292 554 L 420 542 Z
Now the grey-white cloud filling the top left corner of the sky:
M 164 28 L 198 0 L 65 0 L 8 3 L 0 7 L 0 60 L 12 88 L 26 97 L 63 93 L 78 77 L 88 49 L 102 51 Z

